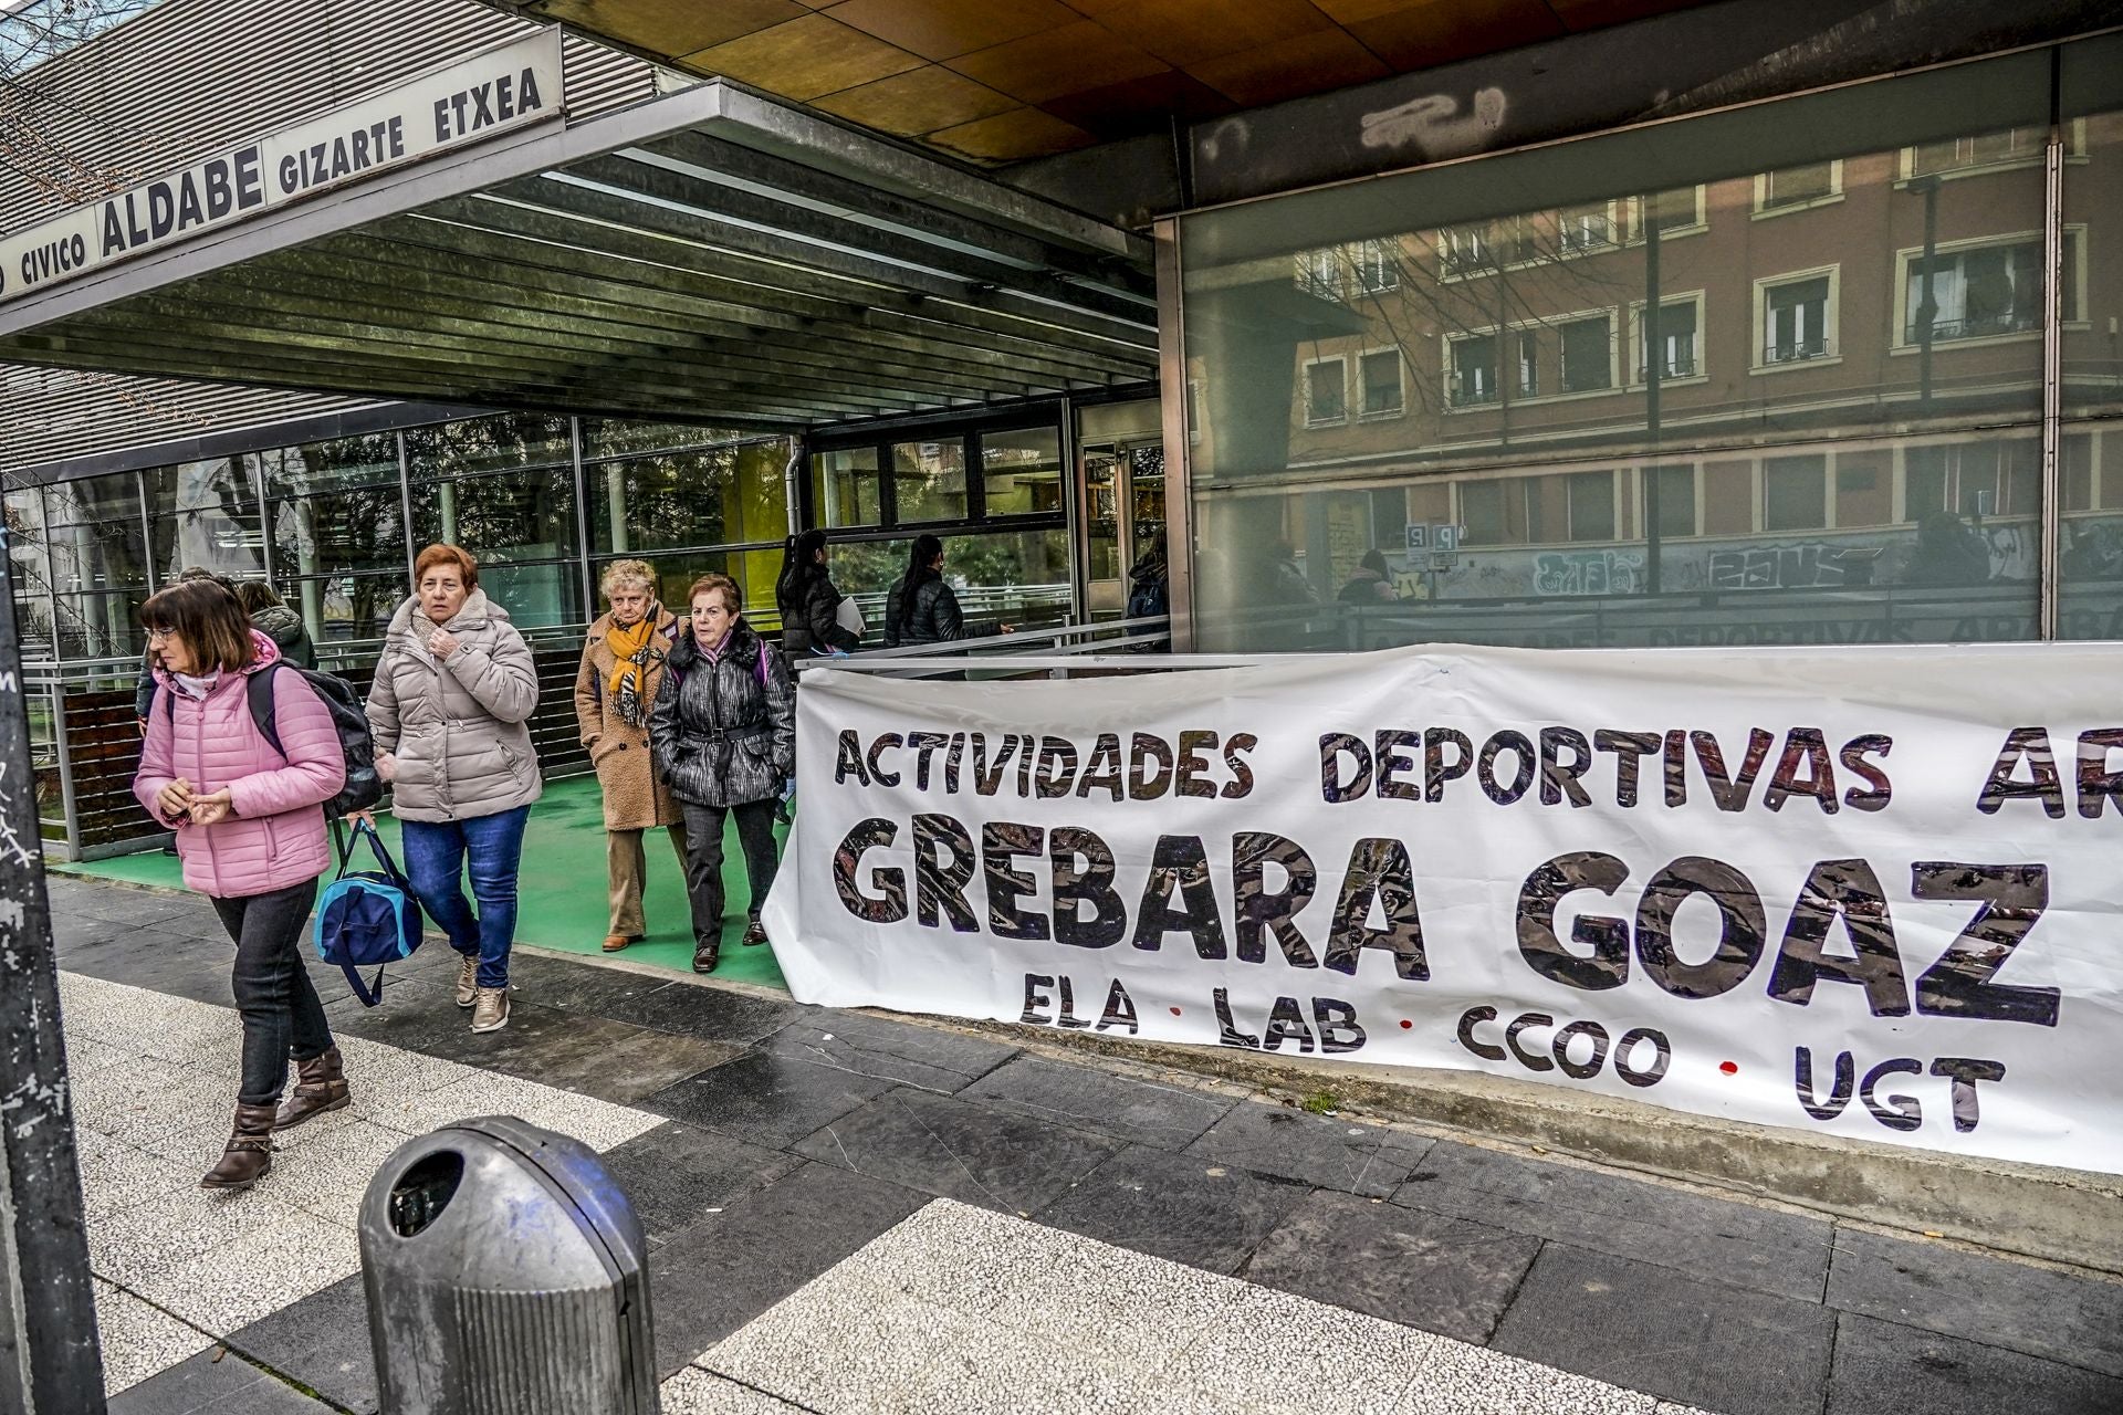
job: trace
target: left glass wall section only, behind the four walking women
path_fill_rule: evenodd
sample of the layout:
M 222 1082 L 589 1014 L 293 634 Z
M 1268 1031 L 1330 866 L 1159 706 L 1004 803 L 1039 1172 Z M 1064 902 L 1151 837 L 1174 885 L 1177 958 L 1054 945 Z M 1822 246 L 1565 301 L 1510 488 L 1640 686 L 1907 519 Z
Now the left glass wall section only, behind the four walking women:
M 648 556 L 667 598 L 737 575 L 773 624 L 786 458 L 783 437 L 497 414 L 17 488 L 25 658 L 134 660 L 140 602 L 189 566 L 272 581 L 321 649 L 359 653 L 431 541 L 471 549 L 527 630 L 594 617 L 594 577 L 624 556 Z

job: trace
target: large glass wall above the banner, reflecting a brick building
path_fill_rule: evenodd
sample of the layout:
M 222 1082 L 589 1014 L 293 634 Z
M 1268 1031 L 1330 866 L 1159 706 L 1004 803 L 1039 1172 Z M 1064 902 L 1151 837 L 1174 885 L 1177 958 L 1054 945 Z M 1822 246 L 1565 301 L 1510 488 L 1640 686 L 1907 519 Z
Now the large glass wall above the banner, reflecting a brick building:
M 2051 57 L 1183 216 L 1197 645 L 2123 632 L 2123 49 Z

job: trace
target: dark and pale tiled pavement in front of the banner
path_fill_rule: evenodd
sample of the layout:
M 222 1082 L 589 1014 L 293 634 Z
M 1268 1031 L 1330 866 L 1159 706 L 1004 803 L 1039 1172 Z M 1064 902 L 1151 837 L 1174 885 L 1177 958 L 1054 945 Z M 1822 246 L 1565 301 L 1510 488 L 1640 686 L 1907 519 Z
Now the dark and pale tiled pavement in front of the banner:
M 227 942 L 197 899 L 51 889 L 115 1381 L 176 1362 L 121 1415 L 376 1409 L 348 1205 L 454 1101 L 609 1146 L 675 1413 L 2123 1411 L 2117 1283 L 548 957 L 488 1037 L 446 948 L 376 1012 L 321 969 L 363 1101 L 210 1211 L 168 1180 L 225 1124 Z M 214 1288 L 231 1237 L 265 1296 Z

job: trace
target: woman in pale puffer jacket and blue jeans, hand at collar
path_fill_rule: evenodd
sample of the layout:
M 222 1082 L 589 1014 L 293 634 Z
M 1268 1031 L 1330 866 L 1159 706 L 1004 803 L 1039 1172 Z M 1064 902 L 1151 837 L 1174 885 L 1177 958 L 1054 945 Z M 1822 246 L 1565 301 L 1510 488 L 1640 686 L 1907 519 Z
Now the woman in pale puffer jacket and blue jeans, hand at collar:
M 543 791 L 527 726 L 535 709 L 531 645 L 480 592 L 478 560 L 456 545 L 422 549 L 414 596 L 391 615 L 367 713 L 405 876 L 465 955 L 456 1006 L 473 1008 L 473 1031 L 510 1018 L 516 868 L 531 802 Z

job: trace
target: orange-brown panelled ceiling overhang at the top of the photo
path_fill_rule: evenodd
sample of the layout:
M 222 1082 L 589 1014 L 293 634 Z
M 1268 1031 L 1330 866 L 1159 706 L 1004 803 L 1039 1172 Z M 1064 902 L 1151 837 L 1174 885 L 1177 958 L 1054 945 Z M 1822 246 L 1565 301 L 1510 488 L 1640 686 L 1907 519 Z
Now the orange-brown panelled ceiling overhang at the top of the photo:
M 1707 0 L 486 0 L 1008 163 Z

